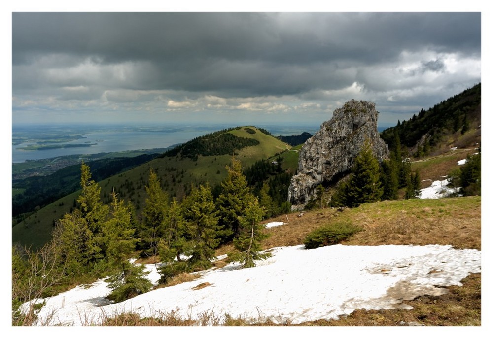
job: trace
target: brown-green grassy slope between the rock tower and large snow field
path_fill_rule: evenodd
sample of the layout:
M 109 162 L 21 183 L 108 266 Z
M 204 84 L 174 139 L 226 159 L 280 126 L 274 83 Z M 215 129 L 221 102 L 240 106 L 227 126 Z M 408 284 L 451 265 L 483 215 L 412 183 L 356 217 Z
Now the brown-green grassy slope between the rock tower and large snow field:
M 308 233 L 334 221 L 349 221 L 365 229 L 346 240 L 346 245 L 440 244 L 481 249 L 481 197 L 383 201 L 288 217 L 288 224 L 265 230 L 271 236 L 262 242 L 264 249 L 303 244 Z M 266 223 L 273 221 L 286 221 L 286 217 Z

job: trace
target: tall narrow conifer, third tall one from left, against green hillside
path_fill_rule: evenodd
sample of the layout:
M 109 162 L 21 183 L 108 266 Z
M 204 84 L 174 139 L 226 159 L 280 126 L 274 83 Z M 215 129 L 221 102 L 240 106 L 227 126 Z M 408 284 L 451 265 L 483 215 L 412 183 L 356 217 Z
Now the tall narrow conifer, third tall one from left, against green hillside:
M 145 187 L 147 198 L 142 211 L 143 222 L 140 227 L 139 236 L 150 256 L 157 255 L 159 238 L 163 236 L 164 219 L 168 209 L 168 195 L 161 188 L 161 183 L 154 172 L 150 170 L 149 183 Z

